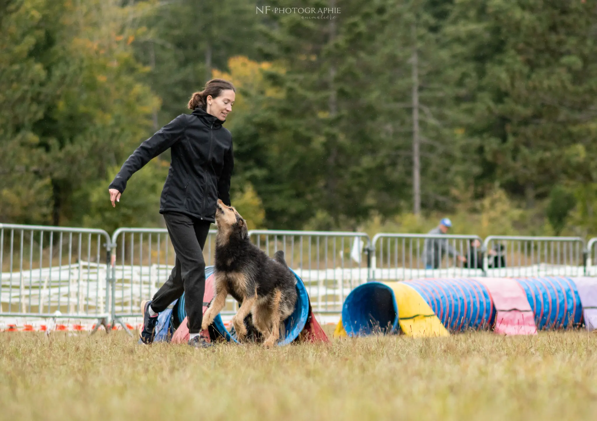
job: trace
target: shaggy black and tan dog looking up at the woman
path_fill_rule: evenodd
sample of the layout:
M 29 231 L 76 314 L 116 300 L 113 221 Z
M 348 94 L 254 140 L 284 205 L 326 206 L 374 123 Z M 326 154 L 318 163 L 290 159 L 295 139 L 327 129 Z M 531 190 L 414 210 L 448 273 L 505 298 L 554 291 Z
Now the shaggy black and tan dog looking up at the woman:
M 264 336 L 266 347 L 275 345 L 282 322 L 294 311 L 297 301 L 296 278 L 284 261 L 284 253 L 275 258 L 251 243 L 247 222 L 236 209 L 218 200 L 216 209 L 216 296 L 203 316 L 207 329 L 232 295 L 241 307 L 232 319 L 238 340 L 247 335 L 244 319 L 251 314 L 253 326 Z

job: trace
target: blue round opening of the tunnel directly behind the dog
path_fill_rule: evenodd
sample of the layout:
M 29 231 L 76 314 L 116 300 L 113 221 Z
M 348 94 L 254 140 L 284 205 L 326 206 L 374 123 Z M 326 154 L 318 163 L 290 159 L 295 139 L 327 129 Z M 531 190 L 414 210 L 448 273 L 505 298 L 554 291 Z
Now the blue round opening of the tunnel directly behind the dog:
M 214 267 L 208 266 L 205 268 L 205 278 L 214 273 Z M 303 280 L 293 271 L 294 277 L 296 278 L 296 290 L 297 290 L 297 302 L 294 306 L 294 312 L 284 321 L 284 333 L 278 341 L 278 346 L 288 345 L 293 340 L 298 338 L 298 335 L 303 331 L 307 318 L 309 318 L 309 294 L 304 286 Z M 184 320 L 186 317 L 186 311 L 184 310 L 184 293 L 179 299 L 179 304 L 175 306 L 177 311 L 178 320 Z M 180 323 L 180 322 L 179 322 Z M 221 319 L 220 314 L 214 318 L 212 324 L 214 330 L 223 336 L 227 341 L 238 342 L 234 332 L 232 334 L 226 329 Z

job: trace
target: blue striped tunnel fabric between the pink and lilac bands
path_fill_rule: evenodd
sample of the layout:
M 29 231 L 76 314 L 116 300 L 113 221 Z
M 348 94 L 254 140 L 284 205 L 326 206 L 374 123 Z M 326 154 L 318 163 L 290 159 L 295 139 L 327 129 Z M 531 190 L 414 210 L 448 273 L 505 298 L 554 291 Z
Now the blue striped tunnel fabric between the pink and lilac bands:
M 517 278 L 535 314 L 537 329 L 561 329 L 579 324 L 582 306 L 571 278 Z

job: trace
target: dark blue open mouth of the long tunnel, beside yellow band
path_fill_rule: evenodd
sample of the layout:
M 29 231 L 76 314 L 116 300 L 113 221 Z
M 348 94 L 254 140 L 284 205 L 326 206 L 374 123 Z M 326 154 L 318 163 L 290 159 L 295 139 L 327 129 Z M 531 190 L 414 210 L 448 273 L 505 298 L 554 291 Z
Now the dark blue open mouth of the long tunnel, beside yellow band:
M 398 306 L 393 290 L 381 282 L 359 285 L 344 300 L 342 324 L 348 336 L 398 332 Z

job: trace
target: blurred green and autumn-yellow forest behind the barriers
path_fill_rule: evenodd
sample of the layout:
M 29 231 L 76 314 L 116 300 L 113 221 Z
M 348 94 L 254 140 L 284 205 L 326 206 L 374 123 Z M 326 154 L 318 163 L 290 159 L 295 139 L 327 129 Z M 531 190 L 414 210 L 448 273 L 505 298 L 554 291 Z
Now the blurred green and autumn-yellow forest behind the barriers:
M 593 0 L 0 0 L 0 222 L 160 226 L 107 186 L 213 77 L 252 227 L 597 234 Z

